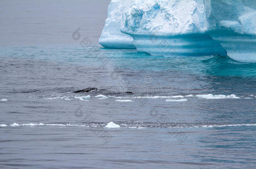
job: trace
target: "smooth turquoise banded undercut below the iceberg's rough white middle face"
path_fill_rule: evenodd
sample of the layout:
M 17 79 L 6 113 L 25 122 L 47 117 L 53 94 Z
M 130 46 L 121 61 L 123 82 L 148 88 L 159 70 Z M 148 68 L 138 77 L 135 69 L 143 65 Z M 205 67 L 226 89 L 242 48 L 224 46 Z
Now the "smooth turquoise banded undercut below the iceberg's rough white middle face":
M 138 51 L 151 55 L 167 57 L 227 55 L 226 50 L 206 33 L 175 36 L 131 34 L 131 36 Z

